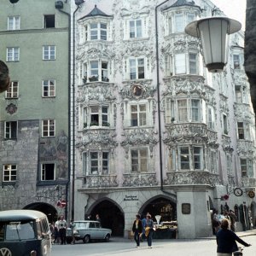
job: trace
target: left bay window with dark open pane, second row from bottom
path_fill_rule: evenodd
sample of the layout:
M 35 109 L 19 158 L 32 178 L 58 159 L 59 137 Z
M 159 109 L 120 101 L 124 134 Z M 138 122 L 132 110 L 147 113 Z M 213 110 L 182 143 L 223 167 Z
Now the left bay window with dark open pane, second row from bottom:
M 89 113 L 87 113 L 87 109 L 89 109 Z M 90 106 L 84 108 L 83 112 L 83 128 L 93 125 L 109 126 L 108 106 Z

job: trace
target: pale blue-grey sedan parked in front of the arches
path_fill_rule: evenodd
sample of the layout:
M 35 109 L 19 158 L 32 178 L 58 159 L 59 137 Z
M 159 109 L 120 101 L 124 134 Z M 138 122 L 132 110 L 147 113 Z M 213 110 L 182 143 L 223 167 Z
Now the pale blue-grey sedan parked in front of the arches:
M 72 242 L 73 235 L 76 241 L 83 240 L 87 243 L 91 240 L 109 241 L 112 234 L 112 230 L 103 229 L 98 221 L 76 220 L 73 224 L 75 224 L 73 234 L 70 228 L 67 229 L 67 243 Z

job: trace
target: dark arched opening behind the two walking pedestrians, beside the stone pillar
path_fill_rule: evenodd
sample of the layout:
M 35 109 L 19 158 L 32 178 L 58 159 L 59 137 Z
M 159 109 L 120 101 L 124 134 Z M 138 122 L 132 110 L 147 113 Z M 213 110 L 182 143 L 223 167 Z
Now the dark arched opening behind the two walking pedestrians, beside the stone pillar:
M 148 212 L 154 221 L 156 221 L 154 218 L 155 215 L 161 216 L 160 222 L 177 220 L 176 204 L 164 197 L 148 202 L 148 204 L 142 208 L 140 213 L 146 215 Z

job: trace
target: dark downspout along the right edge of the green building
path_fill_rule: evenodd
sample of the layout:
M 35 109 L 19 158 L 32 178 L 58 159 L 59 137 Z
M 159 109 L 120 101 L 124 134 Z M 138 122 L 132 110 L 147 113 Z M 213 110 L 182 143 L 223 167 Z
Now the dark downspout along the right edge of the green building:
M 71 91 L 71 15 L 61 9 L 58 9 L 61 13 L 63 13 L 64 15 L 68 16 L 68 125 L 71 122 L 71 118 L 70 118 L 70 106 L 71 106 L 71 98 L 70 98 L 70 91 Z M 68 127 L 68 137 L 70 138 L 71 136 L 71 131 L 70 131 L 70 127 Z M 71 153 L 71 144 L 68 143 L 68 181 L 66 184 L 66 202 L 68 203 L 68 188 L 70 186 L 70 153 Z M 65 216 L 67 218 L 67 204 L 65 207 Z

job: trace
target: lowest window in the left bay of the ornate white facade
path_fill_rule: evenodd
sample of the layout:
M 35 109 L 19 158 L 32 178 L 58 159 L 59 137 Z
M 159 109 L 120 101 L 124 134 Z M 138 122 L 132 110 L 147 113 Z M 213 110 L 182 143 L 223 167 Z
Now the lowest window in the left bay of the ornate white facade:
M 87 161 L 87 154 L 83 154 L 84 157 L 84 173 L 87 170 L 87 163 L 90 166 L 90 174 L 108 174 L 109 173 L 109 153 L 108 151 L 92 151 L 89 153 L 89 161 Z

